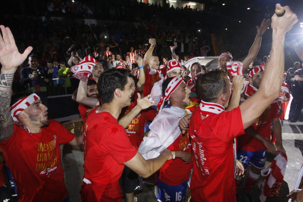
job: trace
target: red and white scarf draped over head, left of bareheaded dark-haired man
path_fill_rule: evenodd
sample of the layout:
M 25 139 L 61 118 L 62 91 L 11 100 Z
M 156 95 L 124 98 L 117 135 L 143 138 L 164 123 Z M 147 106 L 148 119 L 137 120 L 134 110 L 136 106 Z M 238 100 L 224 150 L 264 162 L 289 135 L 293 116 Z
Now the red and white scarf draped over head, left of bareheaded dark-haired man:
M 85 56 L 85 58 L 79 62 L 77 65 L 71 67 L 71 71 L 75 78 L 81 81 L 87 82 L 89 75 L 92 74 L 93 67 L 96 65 L 97 61 L 91 56 Z

